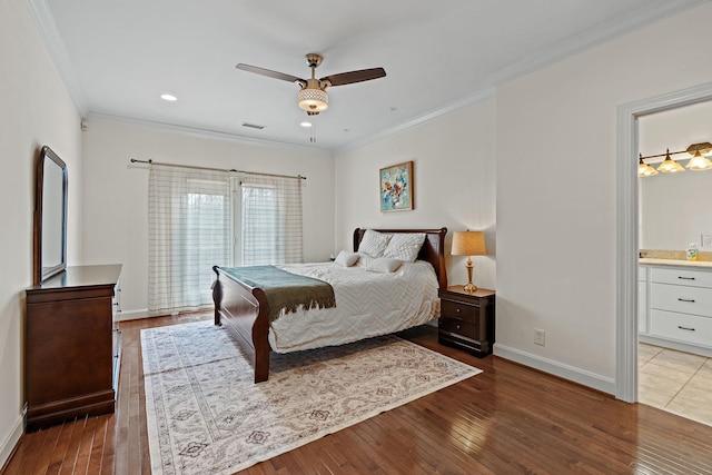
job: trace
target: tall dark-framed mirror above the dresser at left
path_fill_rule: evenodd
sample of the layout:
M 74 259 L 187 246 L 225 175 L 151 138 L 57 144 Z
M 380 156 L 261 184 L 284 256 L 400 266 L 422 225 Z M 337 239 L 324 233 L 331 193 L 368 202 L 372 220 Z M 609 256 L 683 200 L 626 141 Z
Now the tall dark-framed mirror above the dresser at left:
M 33 254 L 36 285 L 67 268 L 67 165 L 47 146 L 37 165 Z

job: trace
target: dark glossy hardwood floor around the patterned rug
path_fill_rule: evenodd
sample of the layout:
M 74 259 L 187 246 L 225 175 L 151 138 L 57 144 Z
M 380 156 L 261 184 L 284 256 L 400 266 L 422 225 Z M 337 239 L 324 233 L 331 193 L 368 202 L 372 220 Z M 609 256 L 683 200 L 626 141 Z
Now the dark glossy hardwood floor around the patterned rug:
M 117 412 L 23 435 L 2 475 L 149 474 L 139 330 L 209 318 L 122 323 Z M 244 473 L 712 473 L 710 426 L 494 356 L 475 358 L 438 345 L 431 327 L 403 336 L 484 373 Z

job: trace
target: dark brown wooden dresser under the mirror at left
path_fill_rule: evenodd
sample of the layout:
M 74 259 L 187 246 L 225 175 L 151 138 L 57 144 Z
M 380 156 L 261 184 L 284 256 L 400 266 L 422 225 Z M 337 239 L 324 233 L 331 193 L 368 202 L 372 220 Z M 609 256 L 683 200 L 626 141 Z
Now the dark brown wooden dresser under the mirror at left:
M 112 413 L 120 362 L 121 265 L 77 266 L 27 294 L 27 431 Z

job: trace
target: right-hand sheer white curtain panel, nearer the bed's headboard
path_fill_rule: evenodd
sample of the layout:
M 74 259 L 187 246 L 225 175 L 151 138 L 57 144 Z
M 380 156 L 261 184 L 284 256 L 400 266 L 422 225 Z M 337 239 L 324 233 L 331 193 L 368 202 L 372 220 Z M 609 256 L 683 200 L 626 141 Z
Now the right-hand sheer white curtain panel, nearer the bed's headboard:
M 240 190 L 240 263 L 301 263 L 301 179 L 246 175 Z

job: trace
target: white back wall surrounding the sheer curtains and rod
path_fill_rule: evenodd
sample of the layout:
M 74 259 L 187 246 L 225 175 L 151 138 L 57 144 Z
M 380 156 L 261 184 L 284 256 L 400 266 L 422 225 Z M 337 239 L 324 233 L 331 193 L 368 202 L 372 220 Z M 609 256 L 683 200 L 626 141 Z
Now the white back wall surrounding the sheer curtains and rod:
M 85 147 L 85 264 L 121 263 L 123 318 L 148 307 L 148 169 L 131 158 L 281 175 L 301 175 L 305 260 L 334 248 L 334 159 L 324 150 L 285 148 L 89 118 Z M 217 264 L 217 263 L 216 263 Z

